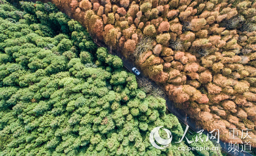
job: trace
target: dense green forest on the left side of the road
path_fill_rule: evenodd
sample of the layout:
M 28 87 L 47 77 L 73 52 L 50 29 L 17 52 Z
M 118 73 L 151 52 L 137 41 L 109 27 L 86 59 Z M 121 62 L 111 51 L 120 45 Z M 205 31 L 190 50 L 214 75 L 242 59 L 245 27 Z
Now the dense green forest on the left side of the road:
M 165 100 L 139 89 L 120 58 L 52 3 L 15 8 L 1 0 L 0 30 L 1 156 L 222 156 L 221 148 L 177 150 L 216 146 L 211 141 L 154 148 L 149 133 L 156 126 L 169 129 L 173 142 L 183 135 Z

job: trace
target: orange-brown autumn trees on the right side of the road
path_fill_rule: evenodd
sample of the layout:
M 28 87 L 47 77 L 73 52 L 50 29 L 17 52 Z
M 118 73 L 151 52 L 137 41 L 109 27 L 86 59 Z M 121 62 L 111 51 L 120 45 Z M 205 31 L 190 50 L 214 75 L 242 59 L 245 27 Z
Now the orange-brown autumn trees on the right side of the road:
M 256 137 L 254 0 L 52 2 L 109 46 L 135 54 L 144 73 L 204 129 L 220 129 L 225 141 L 234 127 L 239 138 L 246 128 Z

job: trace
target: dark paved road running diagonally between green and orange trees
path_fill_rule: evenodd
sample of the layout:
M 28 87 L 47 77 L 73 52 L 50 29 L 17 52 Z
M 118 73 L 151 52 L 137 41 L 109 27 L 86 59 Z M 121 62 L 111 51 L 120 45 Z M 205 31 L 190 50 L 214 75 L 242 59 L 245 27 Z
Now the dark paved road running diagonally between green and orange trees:
M 27 1 L 36 2 L 37 0 L 27 0 Z M 97 39 L 93 39 L 93 40 L 99 47 L 106 47 L 112 55 L 117 55 L 118 57 L 120 57 L 123 60 L 123 67 L 125 67 L 128 71 L 133 73 L 132 68 L 134 67 L 134 63 L 132 63 L 132 61 L 129 61 L 128 59 L 126 59 L 120 51 L 118 52 L 118 51 L 112 49 L 112 47 L 107 46 L 105 43 L 100 42 Z M 136 68 L 141 73 L 139 76 L 136 75 L 136 78 L 137 79 L 145 78 L 145 75 L 143 74 L 142 70 L 140 70 L 139 67 L 136 67 Z M 152 83 L 155 83 L 155 82 L 152 81 Z M 168 98 L 166 98 L 166 108 L 168 111 L 170 111 L 172 114 L 174 114 L 182 123 L 184 123 L 185 125 L 189 125 L 189 128 L 192 129 L 193 131 L 197 132 L 197 131 L 201 130 L 200 126 L 197 126 L 194 120 L 192 120 L 191 118 L 188 118 L 186 112 L 184 112 L 183 110 L 180 110 L 178 108 L 175 108 L 173 105 L 173 101 L 169 100 Z M 207 131 L 205 131 L 205 132 L 207 133 Z M 253 156 L 250 153 L 246 153 L 246 152 L 232 152 L 232 151 L 228 152 L 229 146 L 228 146 L 228 143 L 226 143 L 226 142 L 220 141 L 220 145 L 221 145 L 223 151 L 226 151 L 227 153 L 231 154 L 232 156 Z M 239 151 L 241 151 L 241 149 Z

